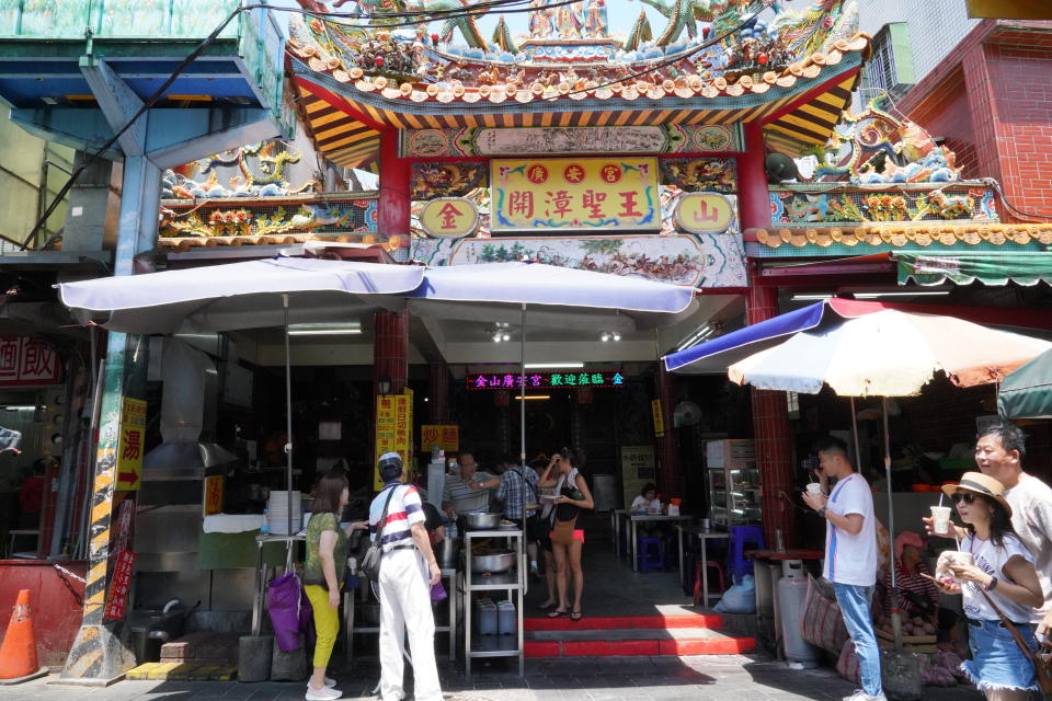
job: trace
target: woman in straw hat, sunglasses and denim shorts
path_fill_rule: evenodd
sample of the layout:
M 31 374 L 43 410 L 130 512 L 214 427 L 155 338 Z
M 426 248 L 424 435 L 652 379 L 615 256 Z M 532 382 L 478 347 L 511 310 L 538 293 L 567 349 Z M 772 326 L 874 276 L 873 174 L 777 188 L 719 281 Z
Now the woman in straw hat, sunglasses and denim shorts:
M 965 472 L 958 484 L 947 484 L 942 491 L 953 499 L 968 531 L 959 550 L 972 560 L 972 564 L 951 564 L 953 578 L 933 578 L 945 593 L 963 594 L 972 659 L 961 669 L 987 699 L 1026 701 L 1029 690 L 1038 688 L 1033 663 L 996 609 L 1030 650 L 1036 650 L 1029 621 L 1033 607 L 1040 607 L 1044 597 L 1033 556 L 1011 528 L 1011 507 L 1000 482 L 980 472 Z

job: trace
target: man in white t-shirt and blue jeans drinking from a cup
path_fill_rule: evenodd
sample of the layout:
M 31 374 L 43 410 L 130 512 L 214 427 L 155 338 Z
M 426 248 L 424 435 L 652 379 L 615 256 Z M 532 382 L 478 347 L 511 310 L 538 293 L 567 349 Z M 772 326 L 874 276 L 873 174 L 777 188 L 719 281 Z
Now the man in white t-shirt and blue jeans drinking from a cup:
M 877 583 L 877 519 L 873 494 L 866 478 L 851 467 L 847 446 L 838 438 L 819 444 L 819 481 L 835 479 L 825 494 L 803 493 L 803 501 L 825 519 L 825 565 L 822 575 L 833 583 L 836 602 L 858 654 L 862 688 L 844 701 L 887 701 L 880 681 L 880 647 L 870 616 Z

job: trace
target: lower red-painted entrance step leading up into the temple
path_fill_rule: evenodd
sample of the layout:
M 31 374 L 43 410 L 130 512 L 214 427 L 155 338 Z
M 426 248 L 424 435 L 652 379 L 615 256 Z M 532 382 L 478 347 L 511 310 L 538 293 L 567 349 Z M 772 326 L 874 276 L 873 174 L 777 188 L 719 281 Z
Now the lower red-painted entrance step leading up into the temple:
M 651 657 L 736 655 L 753 651 L 756 641 L 710 628 L 580 629 L 525 631 L 523 645 L 527 657 Z

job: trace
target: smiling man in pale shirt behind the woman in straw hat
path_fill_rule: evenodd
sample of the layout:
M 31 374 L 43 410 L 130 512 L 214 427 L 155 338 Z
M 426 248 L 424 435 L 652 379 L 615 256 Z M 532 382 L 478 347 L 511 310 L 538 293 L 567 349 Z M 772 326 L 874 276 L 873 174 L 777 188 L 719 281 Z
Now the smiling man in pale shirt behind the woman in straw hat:
M 1005 485 L 1005 499 L 1011 507 L 1011 527 L 1033 554 L 1033 568 L 1041 582 L 1044 606 L 1033 610 L 1038 639 L 1052 631 L 1052 487 L 1022 470 L 1027 455 L 1026 436 L 1013 424 L 994 424 L 985 428 L 975 443 L 975 463 L 988 476 Z M 967 535 L 963 528 L 950 525 L 944 533 L 934 532 L 930 518 L 924 519 L 929 533 L 953 538 Z

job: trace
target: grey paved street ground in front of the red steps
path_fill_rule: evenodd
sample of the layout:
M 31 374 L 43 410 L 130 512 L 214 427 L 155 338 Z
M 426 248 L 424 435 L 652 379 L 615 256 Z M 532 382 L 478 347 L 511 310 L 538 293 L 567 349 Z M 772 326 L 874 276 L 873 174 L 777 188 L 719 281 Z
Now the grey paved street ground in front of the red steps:
M 460 671 L 441 668 L 450 701 L 788 701 L 841 699 L 851 685 L 832 669 L 793 670 L 759 655 L 698 657 L 579 657 L 527 660 L 519 678 L 511 664 L 479 666 L 470 681 Z M 376 683 L 375 664 L 336 674 L 344 698 L 368 698 Z M 293 701 L 304 698 L 302 683 L 236 681 L 122 681 L 107 689 L 46 683 L 0 687 L 0 701 L 105 700 L 153 701 Z M 925 689 L 925 701 L 973 701 L 971 687 Z

